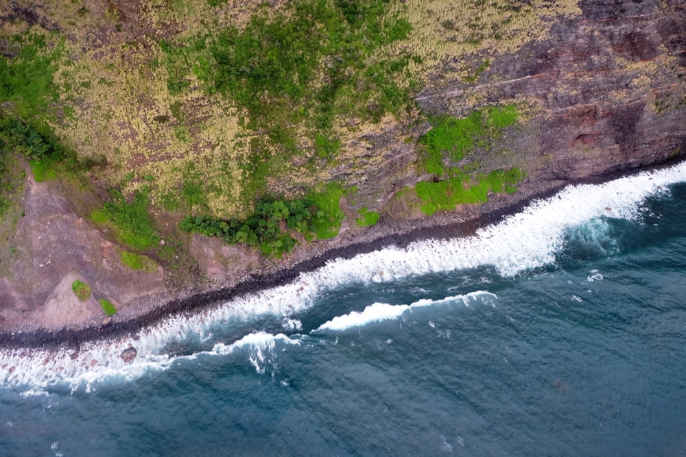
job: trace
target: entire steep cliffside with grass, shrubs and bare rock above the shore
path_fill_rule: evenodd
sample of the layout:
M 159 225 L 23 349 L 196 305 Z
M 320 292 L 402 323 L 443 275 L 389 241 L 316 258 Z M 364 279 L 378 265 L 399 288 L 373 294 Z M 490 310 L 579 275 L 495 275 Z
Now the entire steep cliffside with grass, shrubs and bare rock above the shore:
M 161 316 L 178 299 L 222 297 L 379 243 L 462 234 L 565 184 L 686 154 L 682 2 L 302 6 L 311 3 L 0 7 L 4 115 L 68 150 L 36 182 L 36 158 L 5 148 L 3 332 Z M 312 24 L 310 41 L 298 27 Z M 272 25 L 295 32 L 276 39 Z M 238 66 L 248 35 L 258 41 L 246 49 L 274 46 L 282 73 L 266 55 Z M 282 54 L 288 43 L 314 60 Z M 8 76 L 47 77 L 29 61 L 49 69 L 38 101 Z M 284 75 L 297 84 L 281 84 Z M 444 130 L 447 147 L 436 139 Z M 279 255 L 178 229 L 189 214 L 245 220 L 260 199 L 321 195 L 338 203 L 338 234 L 281 221 L 297 244 Z M 126 238 L 113 214 L 137 201 L 152 232 Z M 71 291 L 77 280 L 91 288 L 84 301 Z

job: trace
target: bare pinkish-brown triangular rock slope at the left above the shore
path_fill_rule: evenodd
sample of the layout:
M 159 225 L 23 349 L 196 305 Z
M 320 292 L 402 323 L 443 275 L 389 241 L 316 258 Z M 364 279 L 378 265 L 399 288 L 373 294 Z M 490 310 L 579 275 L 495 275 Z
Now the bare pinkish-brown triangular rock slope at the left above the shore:
M 97 299 L 115 301 L 119 316 L 126 317 L 155 297 L 167 298 L 162 267 L 148 273 L 124 265 L 123 248 L 78 217 L 54 190 L 27 173 L 24 214 L 10 240 L 14 263 L 0 280 L 1 326 L 60 330 L 97 325 L 104 318 Z M 86 301 L 72 291 L 75 280 L 91 287 Z

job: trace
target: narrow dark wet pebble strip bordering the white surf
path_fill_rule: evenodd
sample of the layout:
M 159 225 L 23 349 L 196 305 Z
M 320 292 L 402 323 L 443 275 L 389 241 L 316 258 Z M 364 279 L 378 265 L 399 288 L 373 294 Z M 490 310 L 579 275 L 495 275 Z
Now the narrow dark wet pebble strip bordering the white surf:
M 167 317 L 193 314 L 203 309 L 220 306 L 224 301 L 236 297 L 287 284 L 295 280 L 300 273 L 314 271 L 336 258 L 353 258 L 359 254 L 368 254 L 389 246 L 403 248 L 419 240 L 471 236 L 478 229 L 498 223 L 511 214 L 520 212 L 523 208 L 529 206 L 532 201 L 552 197 L 567 186 L 602 184 L 620 177 L 664 169 L 681 161 L 683 159 L 675 158 L 659 164 L 641 166 L 635 169 L 610 171 L 582 180 L 528 182 L 523 184 L 525 190 L 521 193 L 495 196 L 495 198 L 492 196 L 491 200 L 487 203 L 470 208 L 472 214 L 464 221 L 458 220 L 460 218 L 457 217 L 455 212 L 452 212 L 443 213 L 438 218 L 424 219 L 419 227 L 410 227 L 409 230 L 403 227 L 407 223 L 388 223 L 385 227 L 381 227 L 382 234 L 379 236 L 371 235 L 370 239 L 357 242 L 343 241 L 340 246 L 321 247 L 314 256 L 300 260 L 287 267 L 277 268 L 274 271 L 252 273 L 246 279 L 239 281 L 233 286 L 210 288 L 200 293 L 189 293 L 185 297 L 167 301 L 162 306 L 158 306 L 131 319 L 115 321 L 107 325 L 95 325 L 69 330 L 66 328 L 57 331 L 39 329 L 12 332 L 2 330 L 0 331 L 0 347 L 18 349 L 36 349 L 38 347 L 78 349 L 82 343 L 87 341 L 99 341 L 121 335 L 135 334 L 142 328 L 154 325 Z M 370 230 L 373 232 L 374 227 Z

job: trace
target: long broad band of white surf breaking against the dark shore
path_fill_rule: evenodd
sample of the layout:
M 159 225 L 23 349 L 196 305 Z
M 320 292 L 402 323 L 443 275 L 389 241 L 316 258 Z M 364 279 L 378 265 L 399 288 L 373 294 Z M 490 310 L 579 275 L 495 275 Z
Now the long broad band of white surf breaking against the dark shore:
M 316 271 L 302 273 L 292 283 L 238 297 L 191 317 L 169 317 L 142 329 L 136 339 L 122 336 L 87 343 L 82 345 L 78 354 L 71 350 L 0 349 L 0 386 L 32 395 L 51 386 L 67 385 L 72 390 L 83 388 L 90 391 L 104 379 L 132 380 L 150 371 L 167 369 L 176 360 L 198 356 L 169 356 L 163 348 L 170 343 L 191 339 L 210 341 L 217 326 L 272 315 L 286 319 L 282 321 L 286 325 L 294 325 L 292 329 L 284 327 L 286 330 L 298 330 L 299 321 L 294 319 L 294 315 L 309 308 L 323 291 L 351 282 L 387 282 L 408 275 L 472 269 L 482 265 L 493 265 L 501 275 L 511 277 L 553 262 L 555 253 L 565 243 L 568 227 L 602 216 L 634 219 L 641 214 L 640 208 L 646 197 L 665 193 L 667 186 L 676 182 L 686 182 L 686 162 L 606 184 L 571 186 L 554 197 L 534 201 L 501 223 L 478 230 L 475 236 L 423 240 L 406 249 L 388 247 L 348 260 L 331 260 Z M 421 306 L 421 302 L 407 306 Z M 363 311 L 359 317 L 348 316 L 348 321 L 359 319 L 364 322 L 383 316 L 392 319 L 393 315 L 407 309 L 379 305 L 369 310 L 367 315 Z M 342 327 L 343 321 L 340 322 L 332 319 L 329 326 Z M 201 354 L 222 356 L 235 350 L 229 348 L 244 344 L 255 344 L 255 347 L 268 350 L 272 343 L 275 344 L 274 338 L 290 339 L 279 335 L 249 334 L 233 345 L 215 345 L 212 351 Z M 120 358 L 121 351 L 127 347 L 136 347 L 138 351 L 137 358 L 130 365 Z M 259 365 L 259 355 L 252 357 Z

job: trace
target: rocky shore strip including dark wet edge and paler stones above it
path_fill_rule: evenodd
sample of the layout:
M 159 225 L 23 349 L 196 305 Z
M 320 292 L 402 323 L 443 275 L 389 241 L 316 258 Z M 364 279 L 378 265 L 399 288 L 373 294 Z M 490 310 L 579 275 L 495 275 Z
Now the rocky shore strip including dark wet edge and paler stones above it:
M 351 258 L 391 245 L 405 247 L 414 241 L 428 238 L 470 236 L 480 227 L 497 223 L 508 215 L 521 211 L 536 199 L 551 197 L 565 186 L 598 184 L 624 175 L 670 166 L 674 162 L 676 161 L 671 160 L 622 173 L 613 172 L 587 177 L 584 180 L 527 182 L 516 195 L 495 196 L 482 206 L 437 214 L 436 217 L 423 219 L 419 223 L 382 222 L 376 227 L 359 232 L 356 236 L 341 236 L 329 243 L 311 246 L 307 252 L 297 252 L 285 262 L 265 264 L 261 271 L 254 271 L 226 285 L 210 286 L 200 291 L 179 289 L 152 298 L 139 297 L 138 301 L 130 306 L 126 316 L 117 316 L 107 321 L 91 319 L 80 323 L 72 322 L 69 326 L 56 329 L 55 321 L 51 320 L 49 314 L 36 314 L 39 317 L 32 321 L 30 326 L 19 325 L 12 328 L 3 325 L 0 330 L 0 345 L 78 348 L 84 341 L 136 334 L 141 328 L 166 317 L 201 312 L 232 298 L 291 282 L 300 273 L 317 269 L 335 258 Z

